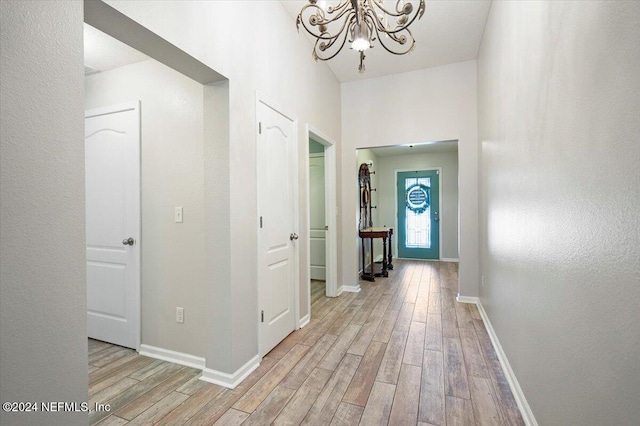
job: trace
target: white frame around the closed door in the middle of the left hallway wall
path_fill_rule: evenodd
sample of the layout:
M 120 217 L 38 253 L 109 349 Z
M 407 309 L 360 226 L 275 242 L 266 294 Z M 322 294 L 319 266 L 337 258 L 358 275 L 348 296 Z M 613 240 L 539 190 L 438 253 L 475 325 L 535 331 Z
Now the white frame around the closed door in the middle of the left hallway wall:
M 282 114 L 283 116 L 285 116 L 286 118 L 288 118 L 289 120 L 291 120 L 293 122 L 293 137 L 295 138 L 294 143 L 293 143 L 293 167 L 296 170 L 296 176 L 300 175 L 300 169 L 298 168 L 298 119 L 297 117 L 292 114 L 291 112 L 289 112 L 288 110 L 286 110 L 285 108 L 283 108 L 282 106 L 280 106 L 280 104 L 278 104 L 277 102 L 271 100 L 270 98 L 268 98 L 267 96 L 265 96 L 264 94 L 260 93 L 259 91 L 256 90 L 256 109 L 255 109 L 255 123 L 256 123 L 256 127 L 255 127 L 255 141 L 254 141 L 254 147 L 255 147 L 255 152 L 256 152 L 256 156 L 255 156 L 255 163 L 254 163 L 254 171 L 255 171 L 255 175 L 256 175 L 256 211 L 255 211 L 255 218 L 256 218 L 256 227 L 260 226 L 260 211 L 258 210 L 259 206 L 260 206 L 260 192 L 257 191 L 258 188 L 258 182 L 257 182 L 257 177 L 258 177 L 258 137 L 259 137 L 259 118 L 258 118 L 258 108 L 260 104 L 264 104 L 266 106 L 268 106 L 269 108 L 277 111 L 278 113 Z M 308 145 L 308 144 L 307 144 Z M 298 179 L 294 179 L 293 181 L 293 198 L 294 198 L 294 210 L 293 210 L 293 227 L 294 230 L 292 232 L 297 233 L 298 235 L 300 234 L 300 208 L 299 208 L 299 200 L 300 200 L 300 194 L 299 194 L 299 184 L 298 184 Z M 257 264 L 257 273 L 256 273 L 256 286 L 258 291 L 256 292 L 256 297 L 257 297 L 257 303 L 256 306 L 258 307 L 258 311 L 256 312 L 256 327 L 258 329 L 258 354 L 262 354 L 262 335 L 261 335 L 261 330 L 260 330 L 260 301 L 261 299 L 261 294 L 260 294 L 260 262 L 262 262 L 261 260 L 261 253 L 260 253 L 260 232 L 256 229 L 257 234 L 258 234 L 258 238 L 257 238 L 257 246 L 256 246 L 256 253 L 257 253 L 257 260 L 258 260 L 258 264 Z M 295 282 L 293 283 L 293 293 L 294 293 L 294 298 L 295 298 L 295 302 L 294 302 L 294 321 L 295 321 L 295 328 L 299 328 L 299 323 L 300 323 L 300 246 L 299 244 L 294 244 L 294 279 Z M 260 355 L 260 357 L 262 357 L 262 355 Z

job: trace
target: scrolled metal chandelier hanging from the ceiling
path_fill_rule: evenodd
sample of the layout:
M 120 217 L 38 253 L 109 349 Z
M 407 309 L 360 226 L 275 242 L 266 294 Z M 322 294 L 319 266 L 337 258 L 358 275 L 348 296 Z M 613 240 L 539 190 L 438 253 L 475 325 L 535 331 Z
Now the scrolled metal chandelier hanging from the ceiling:
M 349 39 L 351 49 L 360 52 L 358 71 L 363 73 L 364 52 L 378 41 L 387 52 L 404 55 L 416 43 L 409 26 L 424 14 L 424 0 L 415 8 L 412 2 L 397 0 L 395 7 L 385 7 L 383 0 L 341 0 L 326 5 L 326 1 L 309 0 L 298 18 L 302 27 L 317 40 L 313 59 L 328 61 L 334 58 Z M 387 2 L 391 3 L 391 2 Z

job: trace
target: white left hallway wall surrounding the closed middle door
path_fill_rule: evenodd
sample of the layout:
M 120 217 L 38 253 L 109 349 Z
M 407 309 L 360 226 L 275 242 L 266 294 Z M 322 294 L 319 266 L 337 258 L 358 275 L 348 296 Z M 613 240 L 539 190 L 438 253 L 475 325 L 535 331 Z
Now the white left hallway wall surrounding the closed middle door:
M 207 302 L 213 329 L 207 336 L 206 358 L 208 368 L 234 372 L 258 353 L 256 90 L 297 116 L 302 165 L 308 155 L 305 123 L 340 143 L 340 85 L 326 64 L 309 60 L 308 40 L 296 32 L 295 20 L 279 2 L 108 3 L 229 78 L 229 144 L 223 154 L 228 161 L 222 165 L 229 169 L 228 183 L 223 182 L 228 185 L 229 236 L 218 241 L 214 253 L 223 273 L 222 279 L 209 283 L 214 291 Z M 238 31 L 238 23 L 244 31 Z M 300 167 L 301 200 L 307 197 L 305 176 Z M 301 241 L 308 232 L 307 217 L 302 203 L 297 230 Z M 303 245 L 299 261 L 309 262 Z M 339 271 L 341 267 L 339 261 Z M 300 268 L 303 286 L 309 282 L 307 271 Z M 303 317 L 308 313 L 308 293 L 299 294 Z

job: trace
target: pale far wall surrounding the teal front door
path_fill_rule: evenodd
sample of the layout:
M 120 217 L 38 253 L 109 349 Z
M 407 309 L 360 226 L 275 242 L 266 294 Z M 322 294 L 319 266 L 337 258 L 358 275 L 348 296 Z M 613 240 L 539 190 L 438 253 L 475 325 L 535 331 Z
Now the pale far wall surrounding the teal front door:
M 440 257 L 458 259 L 458 153 L 442 152 L 418 155 L 379 156 L 377 175 L 380 226 L 397 228 L 396 181 L 398 170 L 442 168 L 440 175 Z M 393 239 L 393 253 L 398 253 L 398 232 Z

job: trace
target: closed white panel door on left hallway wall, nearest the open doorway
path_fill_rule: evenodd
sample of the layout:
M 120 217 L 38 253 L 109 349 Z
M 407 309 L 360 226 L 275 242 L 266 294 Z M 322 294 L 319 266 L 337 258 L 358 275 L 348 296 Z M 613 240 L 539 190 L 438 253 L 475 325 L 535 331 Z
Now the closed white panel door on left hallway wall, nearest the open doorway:
M 258 101 L 258 294 L 260 355 L 295 329 L 297 228 L 293 120 Z

